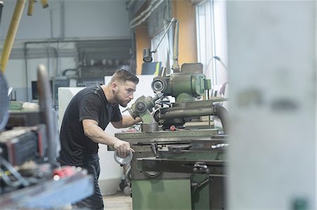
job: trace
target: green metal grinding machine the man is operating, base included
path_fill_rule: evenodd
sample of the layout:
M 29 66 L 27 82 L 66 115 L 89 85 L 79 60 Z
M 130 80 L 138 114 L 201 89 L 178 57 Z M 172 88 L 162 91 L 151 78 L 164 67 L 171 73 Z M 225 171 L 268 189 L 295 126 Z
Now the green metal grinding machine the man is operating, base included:
M 133 209 L 225 209 L 227 112 L 218 105 L 224 99 L 202 100 L 211 88 L 202 73 L 162 72 L 151 84 L 156 96 L 128 108 L 142 118 L 142 131 L 116 133 L 135 150 L 127 174 Z M 210 115 L 220 118 L 224 133 L 187 126 Z

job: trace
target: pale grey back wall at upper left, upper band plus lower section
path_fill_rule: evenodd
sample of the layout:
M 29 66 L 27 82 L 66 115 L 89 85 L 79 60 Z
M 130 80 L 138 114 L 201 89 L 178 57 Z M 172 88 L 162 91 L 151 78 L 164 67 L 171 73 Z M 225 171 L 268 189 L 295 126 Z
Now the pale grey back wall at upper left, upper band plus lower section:
M 0 50 L 8 32 L 16 1 L 4 0 L 0 23 Z M 23 11 L 15 42 L 5 70 L 13 99 L 32 100 L 31 81 L 36 80 L 36 67 L 46 65 L 50 77 L 59 77 L 66 69 L 78 65 L 75 42 L 78 40 L 130 39 L 125 0 L 49 1 L 48 8 L 35 3 L 32 16 Z M 69 41 L 61 42 L 60 41 Z M 25 43 L 29 44 L 25 60 Z M 35 49 L 35 50 L 34 50 Z M 102 78 L 101 78 L 102 79 Z

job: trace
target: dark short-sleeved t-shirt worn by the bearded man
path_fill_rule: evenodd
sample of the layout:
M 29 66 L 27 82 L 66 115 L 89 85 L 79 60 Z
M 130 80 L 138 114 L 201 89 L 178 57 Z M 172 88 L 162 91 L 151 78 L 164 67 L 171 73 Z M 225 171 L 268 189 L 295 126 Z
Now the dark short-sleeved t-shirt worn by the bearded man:
M 66 109 L 61 125 L 61 164 L 80 166 L 97 162 L 98 143 L 85 136 L 82 120 L 94 119 L 102 130 L 109 122 L 122 119 L 118 104 L 108 103 L 101 86 L 89 86 L 79 91 Z

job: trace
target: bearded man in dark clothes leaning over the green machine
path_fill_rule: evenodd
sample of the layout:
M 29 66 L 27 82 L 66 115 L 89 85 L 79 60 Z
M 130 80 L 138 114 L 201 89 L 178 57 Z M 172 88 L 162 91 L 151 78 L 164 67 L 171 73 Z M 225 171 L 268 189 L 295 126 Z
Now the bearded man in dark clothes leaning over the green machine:
M 109 122 L 117 129 L 137 124 L 139 117 L 121 115 L 119 105 L 126 107 L 133 99 L 139 79 L 127 70 L 118 70 L 108 85 L 89 86 L 78 92 L 66 109 L 61 125 L 61 165 L 80 166 L 94 177 L 94 194 L 76 204 L 77 207 L 103 209 L 98 185 L 100 172 L 98 144 L 114 147 L 120 157 L 132 150 L 130 144 L 104 132 Z M 132 150 L 132 152 L 134 152 Z

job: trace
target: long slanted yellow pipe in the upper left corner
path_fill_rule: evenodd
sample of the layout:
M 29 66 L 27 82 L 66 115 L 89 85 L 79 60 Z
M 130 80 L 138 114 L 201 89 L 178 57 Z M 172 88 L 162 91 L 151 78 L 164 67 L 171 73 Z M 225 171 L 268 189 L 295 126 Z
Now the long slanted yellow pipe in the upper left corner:
M 15 4 L 15 9 L 8 29 L 8 34 L 6 34 L 6 40 L 4 41 L 4 49 L 0 56 L 0 69 L 2 73 L 4 73 L 4 71 L 6 70 L 6 63 L 8 62 L 8 58 L 11 53 L 15 34 L 18 31 L 18 26 L 23 13 L 25 1 L 26 0 L 17 0 Z

